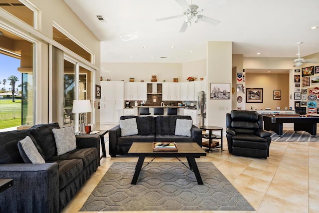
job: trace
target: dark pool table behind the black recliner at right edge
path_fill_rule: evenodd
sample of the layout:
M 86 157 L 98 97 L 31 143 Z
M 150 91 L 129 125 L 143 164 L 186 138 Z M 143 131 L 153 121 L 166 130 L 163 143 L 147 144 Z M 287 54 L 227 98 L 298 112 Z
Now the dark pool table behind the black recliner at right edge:
M 311 135 L 317 135 L 317 123 L 319 116 L 307 115 L 263 115 L 264 129 L 271 130 L 278 135 L 283 135 L 283 123 L 294 123 L 294 131 L 306 131 Z

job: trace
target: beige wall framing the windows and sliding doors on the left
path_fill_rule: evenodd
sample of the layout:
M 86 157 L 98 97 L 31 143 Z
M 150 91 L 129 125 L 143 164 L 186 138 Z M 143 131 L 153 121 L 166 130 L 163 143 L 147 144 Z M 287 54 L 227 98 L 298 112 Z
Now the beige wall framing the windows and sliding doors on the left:
M 52 41 L 53 21 L 71 34 L 77 41 L 95 53 L 95 67 L 100 67 L 100 41 L 75 15 L 63 0 L 29 0 L 39 9 L 38 29 L 22 23 L 3 11 L 0 11 L 0 22 L 8 28 L 13 28 L 25 33 L 37 42 L 36 70 L 35 70 L 35 124 L 49 122 L 49 43 Z M 40 38 L 40 39 L 39 39 Z M 99 84 L 100 71 L 96 71 L 96 82 Z M 56 103 L 54 103 L 56 104 Z M 59 103 L 58 103 L 59 104 Z M 97 104 L 96 104 L 97 105 Z M 96 110 L 96 126 L 99 126 L 100 112 Z

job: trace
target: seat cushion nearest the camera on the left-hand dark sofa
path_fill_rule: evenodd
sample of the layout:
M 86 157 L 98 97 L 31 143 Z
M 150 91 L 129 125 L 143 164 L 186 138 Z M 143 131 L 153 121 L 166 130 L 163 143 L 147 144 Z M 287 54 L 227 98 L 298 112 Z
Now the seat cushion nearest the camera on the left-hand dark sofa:
M 81 159 L 56 161 L 59 165 L 59 190 L 66 187 L 83 171 Z

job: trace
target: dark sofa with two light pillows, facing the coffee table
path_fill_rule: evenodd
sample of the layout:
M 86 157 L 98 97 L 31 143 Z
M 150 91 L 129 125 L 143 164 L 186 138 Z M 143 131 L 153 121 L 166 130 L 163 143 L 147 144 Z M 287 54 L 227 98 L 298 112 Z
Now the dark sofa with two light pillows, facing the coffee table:
M 109 130 L 109 154 L 111 157 L 127 155 L 133 142 L 196 142 L 201 147 L 202 131 L 194 125 L 191 128 L 191 137 L 174 135 L 176 119 L 191 119 L 190 116 L 139 117 L 130 115 L 121 116 L 120 120 L 128 118 L 136 118 L 139 134 L 122 137 L 120 125 L 111 128 Z

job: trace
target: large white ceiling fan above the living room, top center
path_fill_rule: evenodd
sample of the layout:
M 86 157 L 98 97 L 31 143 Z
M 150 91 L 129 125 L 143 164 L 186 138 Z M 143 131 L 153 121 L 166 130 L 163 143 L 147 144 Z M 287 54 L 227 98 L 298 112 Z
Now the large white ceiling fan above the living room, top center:
M 188 5 L 186 0 L 175 0 L 184 10 L 183 14 L 180 15 L 174 15 L 174 16 L 169 16 L 169 17 L 164 17 L 164 18 L 157 18 L 155 19 L 156 21 L 162 21 L 162 20 L 167 20 L 167 19 L 172 19 L 172 18 L 179 18 L 184 16 L 184 23 L 181 26 L 179 32 L 185 32 L 187 26 L 191 25 L 191 21 L 194 20 L 195 23 L 197 23 L 199 20 L 205 21 L 207 23 L 217 25 L 220 23 L 219 20 L 213 19 L 211 17 L 201 15 L 199 12 L 203 11 L 203 9 L 200 9 L 198 5 L 192 4 L 192 0 L 190 1 L 190 4 Z

